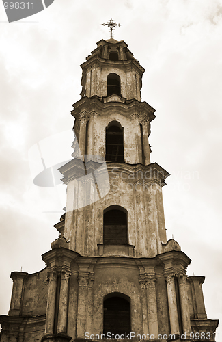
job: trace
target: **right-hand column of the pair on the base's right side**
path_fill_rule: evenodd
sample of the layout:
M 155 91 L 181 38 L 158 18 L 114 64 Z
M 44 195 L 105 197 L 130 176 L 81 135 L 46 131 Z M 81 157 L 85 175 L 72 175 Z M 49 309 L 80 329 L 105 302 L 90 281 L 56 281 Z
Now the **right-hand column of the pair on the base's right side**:
M 182 328 L 184 334 L 189 335 L 191 333 L 191 319 L 189 313 L 189 304 L 187 298 L 186 291 L 186 278 L 184 274 L 178 275 L 178 283 L 179 283 L 179 293 L 180 293 L 180 306 L 181 306 L 181 315 L 182 315 Z

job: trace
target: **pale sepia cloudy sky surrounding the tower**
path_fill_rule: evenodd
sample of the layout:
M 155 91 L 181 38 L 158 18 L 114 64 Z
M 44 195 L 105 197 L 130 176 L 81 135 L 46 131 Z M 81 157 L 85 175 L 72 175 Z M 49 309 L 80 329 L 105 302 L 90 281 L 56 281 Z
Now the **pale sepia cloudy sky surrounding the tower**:
M 208 318 L 222 319 L 219 0 L 55 0 L 15 23 L 0 4 L 0 314 L 10 306 L 10 272 L 43 269 L 41 254 L 58 237 L 53 224 L 61 213 L 44 211 L 65 206 L 55 189 L 33 185 L 29 149 L 72 129 L 79 65 L 110 38 L 101 25 L 110 18 L 122 24 L 114 38 L 146 70 L 142 101 L 156 109 L 151 159 L 171 174 L 163 188 L 167 238 L 174 235 L 192 259 L 190 276 L 206 276 Z M 66 144 L 67 153 L 72 138 Z

